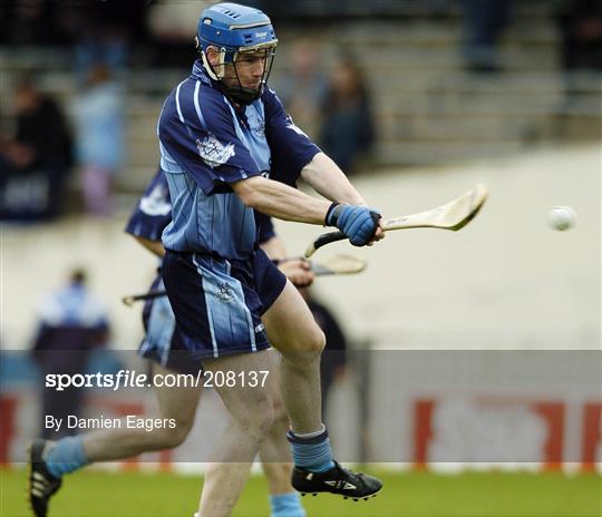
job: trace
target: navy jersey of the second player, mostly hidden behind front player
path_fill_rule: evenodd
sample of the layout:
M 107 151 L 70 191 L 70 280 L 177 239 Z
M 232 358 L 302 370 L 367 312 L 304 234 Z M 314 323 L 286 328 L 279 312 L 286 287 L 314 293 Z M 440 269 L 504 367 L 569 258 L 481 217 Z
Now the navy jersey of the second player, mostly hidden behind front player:
M 259 212 L 254 214 L 259 243 L 275 236 L 272 218 Z M 159 168 L 127 221 L 125 231 L 136 237 L 161 241 L 165 227 L 172 222 L 172 201 L 167 178 Z

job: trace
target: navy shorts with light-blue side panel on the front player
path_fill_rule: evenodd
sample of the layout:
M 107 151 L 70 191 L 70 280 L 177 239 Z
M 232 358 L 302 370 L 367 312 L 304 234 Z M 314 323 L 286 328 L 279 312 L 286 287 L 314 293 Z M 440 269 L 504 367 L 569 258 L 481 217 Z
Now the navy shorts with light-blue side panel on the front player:
M 270 347 L 261 315 L 278 299 L 287 277 L 262 250 L 249 261 L 167 251 L 163 281 L 175 333 L 195 360 Z

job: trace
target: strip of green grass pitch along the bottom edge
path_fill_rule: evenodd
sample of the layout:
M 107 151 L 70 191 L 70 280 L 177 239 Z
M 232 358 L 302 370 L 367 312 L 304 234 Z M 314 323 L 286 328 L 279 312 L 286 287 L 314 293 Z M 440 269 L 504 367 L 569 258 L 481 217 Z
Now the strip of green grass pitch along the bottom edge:
M 1 470 L 0 516 L 29 516 L 26 471 Z M 303 498 L 308 517 L 600 517 L 602 478 L 562 474 L 380 472 L 385 490 L 369 501 L 320 495 Z M 201 477 L 110 474 L 67 476 L 50 517 L 192 517 Z M 235 517 L 268 517 L 266 485 L 252 477 Z

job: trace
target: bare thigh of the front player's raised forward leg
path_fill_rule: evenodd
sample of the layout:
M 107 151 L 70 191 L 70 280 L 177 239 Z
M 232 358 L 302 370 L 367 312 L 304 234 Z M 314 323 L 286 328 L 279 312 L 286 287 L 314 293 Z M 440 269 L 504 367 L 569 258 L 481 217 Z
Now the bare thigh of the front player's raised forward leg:
M 326 339 L 297 287 L 287 282 L 284 290 L 262 316 L 268 339 L 283 354 L 321 352 Z

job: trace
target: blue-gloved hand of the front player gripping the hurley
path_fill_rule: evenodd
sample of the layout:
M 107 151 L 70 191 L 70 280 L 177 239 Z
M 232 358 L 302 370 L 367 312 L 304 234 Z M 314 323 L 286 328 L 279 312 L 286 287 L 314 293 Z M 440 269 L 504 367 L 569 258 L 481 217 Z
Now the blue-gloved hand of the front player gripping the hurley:
M 371 245 L 385 235 L 380 226 L 380 214 L 368 206 L 333 203 L 328 209 L 324 223 L 337 226 L 353 246 Z

